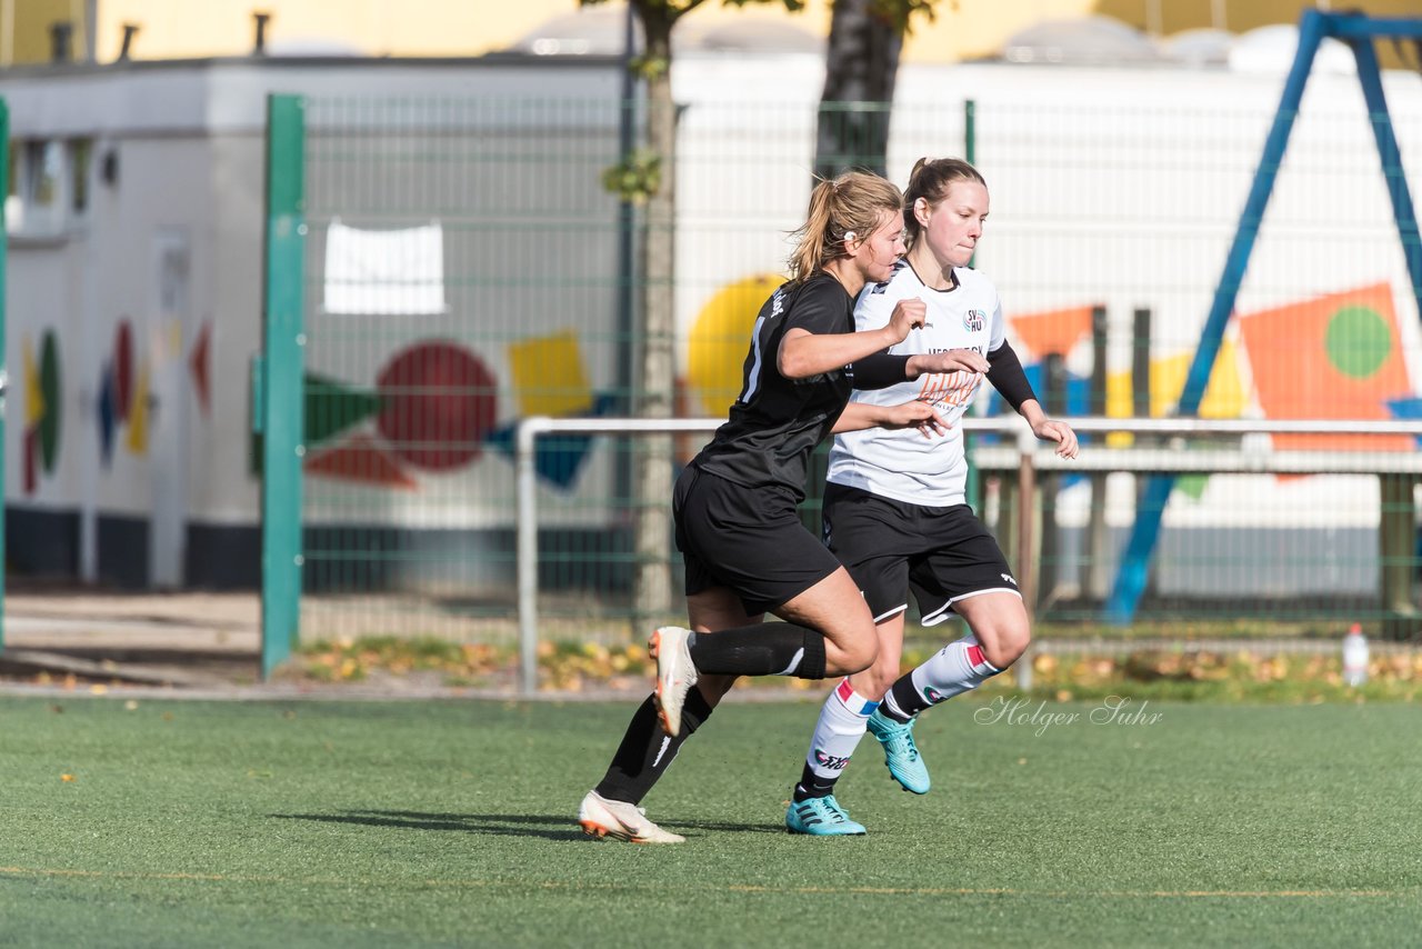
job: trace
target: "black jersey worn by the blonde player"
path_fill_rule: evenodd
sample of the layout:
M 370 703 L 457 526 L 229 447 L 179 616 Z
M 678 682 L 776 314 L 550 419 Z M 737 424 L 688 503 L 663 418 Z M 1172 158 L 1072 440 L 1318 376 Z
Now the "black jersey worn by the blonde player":
M 843 369 L 809 378 L 785 378 L 776 363 L 791 329 L 853 333 L 855 299 L 828 273 L 785 283 L 761 307 L 745 357 L 745 384 L 731 418 L 691 462 L 747 488 L 779 485 L 805 498 L 809 455 L 849 401 Z

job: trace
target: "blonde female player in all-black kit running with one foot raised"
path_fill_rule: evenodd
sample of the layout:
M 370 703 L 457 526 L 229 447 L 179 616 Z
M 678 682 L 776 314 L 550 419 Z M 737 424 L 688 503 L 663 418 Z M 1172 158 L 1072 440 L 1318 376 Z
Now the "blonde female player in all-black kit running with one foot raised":
M 587 834 L 683 839 L 637 805 L 738 676 L 823 679 L 875 662 L 875 620 L 859 586 L 803 528 L 796 507 L 811 452 L 832 431 L 946 431 L 921 400 L 846 411 L 855 386 L 906 378 L 902 363 L 873 378 L 882 363 L 869 357 L 921 327 L 924 303 L 902 299 L 884 326 L 855 332 L 859 292 L 889 280 L 906 249 L 903 196 L 883 178 L 849 172 L 820 182 L 796 233 L 791 279 L 755 320 L 745 386 L 729 420 L 677 481 L 673 512 L 691 629 L 653 633 L 656 694 L 634 713 L 606 777 L 583 798 L 579 824 Z M 921 366 L 958 369 L 985 371 L 987 361 L 960 350 Z M 766 612 L 782 622 L 762 623 Z

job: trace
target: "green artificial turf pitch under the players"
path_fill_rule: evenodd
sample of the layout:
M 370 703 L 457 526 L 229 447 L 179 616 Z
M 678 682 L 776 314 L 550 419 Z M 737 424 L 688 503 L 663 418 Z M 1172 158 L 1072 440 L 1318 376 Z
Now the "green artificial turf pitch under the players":
M 839 800 L 869 835 L 843 839 L 782 829 L 818 701 L 727 704 L 646 801 L 687 844 L 634 847 L 574 824 L 631 703 L 0 697 L 0 946 L 1422 931 L 1413 707 L 1150 701 L 1105 724 L 1096 703 L 995 701 L 924 716 L 927 797 L 899 791 L 866 738 Z

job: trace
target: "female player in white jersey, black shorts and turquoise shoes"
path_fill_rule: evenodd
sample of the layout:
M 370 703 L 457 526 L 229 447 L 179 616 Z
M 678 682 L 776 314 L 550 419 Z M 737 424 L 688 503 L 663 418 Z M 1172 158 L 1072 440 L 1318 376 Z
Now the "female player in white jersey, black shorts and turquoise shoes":
M 835 437 L 825 491 L 825 542 L 869 603 L 879 654 L 825 700 L 785 815 L 786 828 L 799 834 L 865 832 L 835 800 L 833 788 L 866 728 L 882 743 L 893 777 L 906 790 L 926 794 L 929 773 L 913 741 L 917 714 L 1003 672 L 1030 640 L 1027 609 L 1011 568 L 964 497 L 967 457 L 960 420 L 984 373 L 960 369 L 917 377 L 914 369 L 926 357 L 951 350 L 985 356 L 987 380 L 1037 437 L 1055 441 L 1062 457 L 1076 455 L 1075 433 L 1044 414 L 1007 343 L 997 290 L 967 267 L 988 215 L 983 176 L 960 159 L 920 159 L 904 203 L 909 253 L 889 282 L 863 289 L 855 329 L 883 326 L 903 299 L 924 300 L 927 314 L 923 329 L 890 347 L 897 361 L 879 357 L 875 364 L 856 364 L 852 398 L 866 405 L 917 398 L 933 405 L 950 428 L 944 437 L 929 440 L 913 430 L 887 428 Z M 866 383 L 883 381 L 866 378 L 870 373 L 890 373 L 904 381 L 869 388 Z M 970 632 L 900 677 L 910 588 L 924 626 L 953 612 Z

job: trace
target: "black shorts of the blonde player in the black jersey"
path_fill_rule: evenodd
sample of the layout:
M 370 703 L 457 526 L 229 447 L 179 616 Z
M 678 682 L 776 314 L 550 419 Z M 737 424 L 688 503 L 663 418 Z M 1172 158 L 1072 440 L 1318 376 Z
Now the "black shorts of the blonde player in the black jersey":
M 687 596 L 725 586 L 749 615 L 774 610 L 839 569 L 805 529 L 795 495 L 744 488 L 688 465 L 671 495 Z

